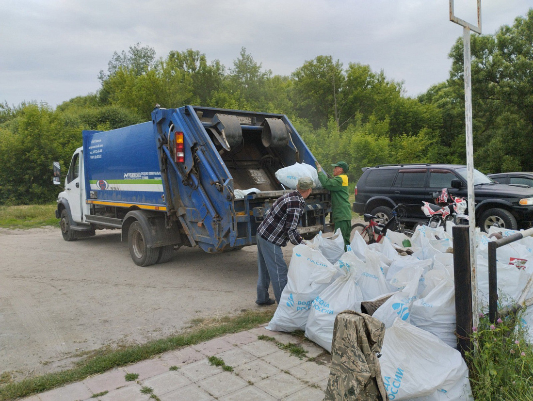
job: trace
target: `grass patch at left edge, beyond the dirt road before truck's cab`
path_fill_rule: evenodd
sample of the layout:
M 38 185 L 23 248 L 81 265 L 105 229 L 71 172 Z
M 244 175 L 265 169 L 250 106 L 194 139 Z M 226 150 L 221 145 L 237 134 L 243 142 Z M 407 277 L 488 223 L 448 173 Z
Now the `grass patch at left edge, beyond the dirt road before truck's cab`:
M 21 206 L 0 206 L 0 227 L 2 228 L 36 228 L 58 226 L 53 204 L 30 204 Z

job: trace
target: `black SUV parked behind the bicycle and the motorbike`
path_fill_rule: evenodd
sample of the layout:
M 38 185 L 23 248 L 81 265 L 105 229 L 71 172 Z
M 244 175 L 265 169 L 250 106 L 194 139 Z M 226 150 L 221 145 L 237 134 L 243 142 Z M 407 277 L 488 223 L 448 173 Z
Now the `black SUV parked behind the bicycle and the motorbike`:
M 365 167 L 357 182 L 352 210 L 389 219 L 392 208 L 403 203 L 407 223 L 427 221 L 422 202 L 433 202 L 432 194 L 447 188 L 467 198 L 466 166 L 446 164 L 404 164 Z M 475 218 L 487 231 L 500 227 L 529 228 L 533 221 L 533 188 L 504 185 L 474 169 Z

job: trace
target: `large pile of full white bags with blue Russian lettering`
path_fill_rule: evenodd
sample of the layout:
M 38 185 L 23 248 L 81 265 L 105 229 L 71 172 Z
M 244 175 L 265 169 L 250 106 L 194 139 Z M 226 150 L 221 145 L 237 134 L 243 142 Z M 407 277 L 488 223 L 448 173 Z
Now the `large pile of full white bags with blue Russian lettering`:
M 491 228 L 503 236 L 514 232 Z M 270 330 L 305 330 L 305 336 L 331 351 L 335 317 L 361 302 L 386 298 L 373 316 L 385 324 L 379 362 L 389 398 L 472 399 L 468 370 L 456 347 L 453 241 L 444 227 L 417 227 L 406 255 L 403 234 L 389 233 L 367 245 L 359 233 L 344 250 L 340 232 L 319 233 L 297 245 L 288 283 Z M 488 305 L 489 235 L 478 232 L 477 272 L 481 305 Z M 497 277 L 502 306 L 517 301 L 533 273 L 533 238 L 499 248 Z M 528 296 L 533 297 L 533 289 Z M 521 324 L 533 344 L 533 307 Z

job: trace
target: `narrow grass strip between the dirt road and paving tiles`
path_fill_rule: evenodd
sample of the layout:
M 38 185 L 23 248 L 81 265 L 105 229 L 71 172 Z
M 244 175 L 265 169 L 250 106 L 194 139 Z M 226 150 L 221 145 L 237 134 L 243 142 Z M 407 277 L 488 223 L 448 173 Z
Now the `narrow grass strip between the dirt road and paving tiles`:
M 19 382 L 11 382 L 0 386 L 0 400 L 11 400 L 31 394 L 63 386 L 86 379 L 87 377 L 106 372 L 114 367 L 162 354 L 166 351 L 211 340 L 224 334 L 249 330 L 270 321 L 273 309 L 259 311 L 247 310 L 235 317 L 196 321 L 196 326 L 188 331 L 160 340 L 150 341 L 141 345 L 125 346 L 120 349 L 103 348 L 96 350 L 69 370 L 47 373 L 41 376 L 26 378 Z

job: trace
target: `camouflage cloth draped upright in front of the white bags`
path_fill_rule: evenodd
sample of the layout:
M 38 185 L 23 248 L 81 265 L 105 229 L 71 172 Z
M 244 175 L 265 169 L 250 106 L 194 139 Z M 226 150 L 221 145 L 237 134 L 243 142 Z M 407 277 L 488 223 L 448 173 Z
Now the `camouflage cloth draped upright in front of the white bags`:
M 384 336 L 385 325 L 372 316 L 337 315 L 325 400 L 388 400 L 377 358 Z

